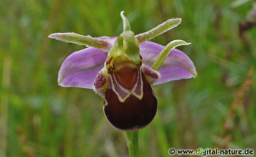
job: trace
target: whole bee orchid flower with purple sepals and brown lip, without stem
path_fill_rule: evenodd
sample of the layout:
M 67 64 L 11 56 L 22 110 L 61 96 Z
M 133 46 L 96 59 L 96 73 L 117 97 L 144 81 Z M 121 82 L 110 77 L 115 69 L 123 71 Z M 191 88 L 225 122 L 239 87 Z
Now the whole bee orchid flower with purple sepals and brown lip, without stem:
M 63 62 L 58 83 L 63 87 L 93 89 L 104 99 L 103 110 L 117 129 L 137 131 L 155 117 L 158 107 L 153 85 L 196 77 L 191 59 L 175 49 L 188 45 L 174 40 L 166 46 L 148 41 L 176 27 L 180 18 L 169 19 L 138 35 L 121 12 L 123 33 L 115 37 L 91 37 L 54 33 L 50 38 L 86 45 Z

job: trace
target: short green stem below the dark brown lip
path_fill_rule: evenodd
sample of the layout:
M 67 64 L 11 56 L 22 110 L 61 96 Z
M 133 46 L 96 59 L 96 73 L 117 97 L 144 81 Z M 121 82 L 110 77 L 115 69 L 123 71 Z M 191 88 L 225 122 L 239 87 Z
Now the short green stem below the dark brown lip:
M 130 157 L 139 156 L 139 143 L 138 143 L 138 131 L 136 132 L 124 132 L 124 137 L 127 141 Z

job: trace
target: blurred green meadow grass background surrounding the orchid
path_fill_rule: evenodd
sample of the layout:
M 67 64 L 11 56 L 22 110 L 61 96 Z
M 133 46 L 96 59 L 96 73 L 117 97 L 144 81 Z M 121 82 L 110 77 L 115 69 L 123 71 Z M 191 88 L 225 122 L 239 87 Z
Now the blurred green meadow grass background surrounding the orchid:
M 169 157 L 170 148 L 249 148 L 255 156 L 254 5 L 254 0 L 1 0 L 0 156 L 129 156 L 123 132 L 107 121 L 100 96 L 58 86 L 64 59 L 85 46 L 48 38 L 57 32 L 118 36 L 121 11 L 135 34 L 182 18 L 151 41 L 191 42 L 177 48 L 198 73 L 153 87 L 159 106 L 153 122 L 139 131 L 140 156 Z

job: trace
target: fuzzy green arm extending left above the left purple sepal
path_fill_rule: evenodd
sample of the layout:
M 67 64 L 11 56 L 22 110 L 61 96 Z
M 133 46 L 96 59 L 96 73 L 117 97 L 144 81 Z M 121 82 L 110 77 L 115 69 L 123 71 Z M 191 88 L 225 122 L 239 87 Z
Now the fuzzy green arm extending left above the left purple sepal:
M 95 47 L 106 52 L 108 52 L 111 48 L 108 45 L 108 42 L 103 39 L 97 39 L 95 37 L 84 36 L 76 33 L 53 33 L 48 37 L 64 42 Z

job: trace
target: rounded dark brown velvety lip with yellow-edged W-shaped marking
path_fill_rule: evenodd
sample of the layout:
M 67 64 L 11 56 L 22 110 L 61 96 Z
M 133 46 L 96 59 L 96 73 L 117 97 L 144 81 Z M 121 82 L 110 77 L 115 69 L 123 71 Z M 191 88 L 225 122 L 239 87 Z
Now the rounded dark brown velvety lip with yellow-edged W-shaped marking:
M 125 72 L 129 75 L 123 75 Z M 111 71 L 108 83 L 111 86 L 105 91 L 103 110 L 114 127 L 136 131 L 154 119 L 158 107 L 157 98 L 140 68 L 126 67 L 118 72 Z

